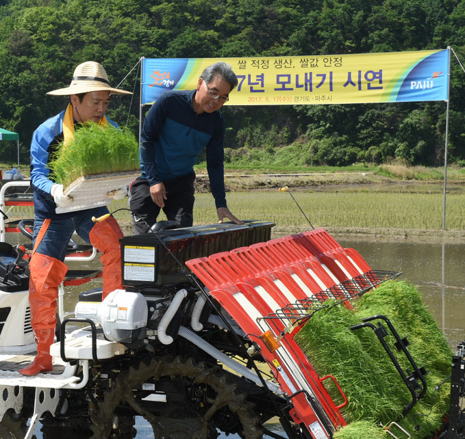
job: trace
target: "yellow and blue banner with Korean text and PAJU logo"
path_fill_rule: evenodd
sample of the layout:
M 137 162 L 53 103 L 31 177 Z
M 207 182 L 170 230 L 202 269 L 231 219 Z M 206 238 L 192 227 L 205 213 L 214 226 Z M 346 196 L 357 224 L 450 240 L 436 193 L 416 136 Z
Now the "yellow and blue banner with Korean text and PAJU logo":
M 231 64 L 229 105 L 316 105 L 448 98 L 449 51 L 294 57 L 144 59 L 142 105 L 166 90 L 193 90 L 203 69 Z

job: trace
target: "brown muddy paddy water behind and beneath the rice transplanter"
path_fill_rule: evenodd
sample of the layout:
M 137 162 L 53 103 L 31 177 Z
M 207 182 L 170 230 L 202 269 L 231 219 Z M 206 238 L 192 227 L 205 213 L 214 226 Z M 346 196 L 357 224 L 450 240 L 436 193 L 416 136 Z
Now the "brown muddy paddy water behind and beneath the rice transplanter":
M 338 241 L 344 248 L 355 248 L 373 269 L 403 271 L 400 279 L 418 287 L 453 350 L 458 342 L 465 339 L 465 244 L 399 243 L 369 239 Z M 83 268 L 76 263 L 70 265 Z M 86 265 L 99 267 L 99 262 L 95 260 Z M 73 310 L 79 291 L 99 286 L 100 281 L 97 280 L 68 289 L 65 310 Z M 136 428 L 136 438 L 151 438 L 143 423 L 136 423 Z M 273 426 L 273 431 L 286 437 L 279 425 Z M 36 436 L 38 439 L 51 437 L 42 436 L 40 431 L 36 431 Z M 226 439 L 226 436 L 220 437 Z M 236 436 L 229 435 L 227 439 L 236 439 Z

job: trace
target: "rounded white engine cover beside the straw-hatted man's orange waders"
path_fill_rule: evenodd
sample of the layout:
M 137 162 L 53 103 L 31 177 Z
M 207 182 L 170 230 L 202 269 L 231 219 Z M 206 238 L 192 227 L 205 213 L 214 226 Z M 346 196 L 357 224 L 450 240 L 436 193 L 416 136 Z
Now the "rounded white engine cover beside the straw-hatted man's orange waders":
M 123 341 L 147 325 L 147 300 L 140 293 L 112 291 L 103 302 L 78 302 L 75 316 L 99 323 L 110 341 Z

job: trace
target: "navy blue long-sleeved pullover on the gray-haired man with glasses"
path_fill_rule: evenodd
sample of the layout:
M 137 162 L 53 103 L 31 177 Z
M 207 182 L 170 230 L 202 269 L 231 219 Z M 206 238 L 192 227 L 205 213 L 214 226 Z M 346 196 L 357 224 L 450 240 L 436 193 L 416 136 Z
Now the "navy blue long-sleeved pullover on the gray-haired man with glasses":
M 196 90 L 163 93 L 152 105 L 140 136 L 140 169 L 149 185 L 194 172 L 206 149 L 207 170 L 216 208 L 226 207 L 224 180 L 225 121 L 220 111 L 197 114 Z

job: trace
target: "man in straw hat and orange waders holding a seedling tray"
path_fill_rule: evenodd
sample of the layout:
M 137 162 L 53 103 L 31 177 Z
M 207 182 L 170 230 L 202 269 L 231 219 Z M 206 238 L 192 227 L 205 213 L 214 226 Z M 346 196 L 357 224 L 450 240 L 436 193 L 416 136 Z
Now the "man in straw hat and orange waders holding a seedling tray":
M 54 341 L 58 287 L 68 267 L 64 264 L 66 248 L 73 232 L 91 243 L 103 263 L 103 298 L 123 289 L 121 250 L 123 232 L 114 217 L 92 222 L 93 217 L 108 214 L 106 207 L 84 211 L 56 213 L 73 200 L 63 193 L 63 186 L 51 180 L 49 161 L 61 142 L 74 138 L 79 124 L 88 121 L 118 127 L 105 116 L 111 94 L 131 94 L 112 88 L 101 64 L 93 61 L 79 64 L 71 85 L 47 94 L 69 96 L 66 110 L 49 118 L 34 131 L 31 143 L 31 183 L 34 190 L 34 249 L 29 261 L 29 306 L 37 356 L 21 369 L 23 375 L 37 375 L 53 369 L 50 346 Z

